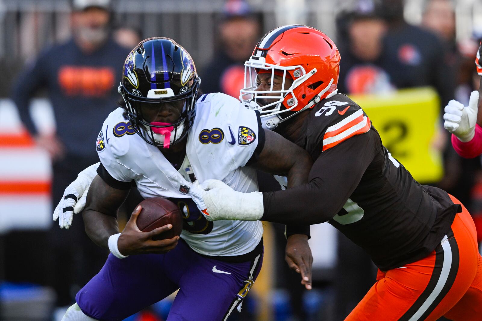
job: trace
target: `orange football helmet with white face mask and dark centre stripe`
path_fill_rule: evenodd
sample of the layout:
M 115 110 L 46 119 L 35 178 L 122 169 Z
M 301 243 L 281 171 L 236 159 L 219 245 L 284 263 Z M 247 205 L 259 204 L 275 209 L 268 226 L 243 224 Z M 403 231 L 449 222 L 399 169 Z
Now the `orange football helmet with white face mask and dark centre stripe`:
M 263 126 L 273 129 L 335 94 L 339 64 L 340 53 L 335 43 L 320 30 L 303 25 L 278 27 L 258 42 L 253 55 L 244 63 L 240 99 L 250 109 L 259 110 Z M 254 78 L 260 72 L 272 74 L 271 90 L 256 91 Z M 283 76 L 281 90 L 273 90 L 275 74 Z M 294 82 L 284 88 L 287 77 Z M 257 99 L 273 102 L 259 106 Z

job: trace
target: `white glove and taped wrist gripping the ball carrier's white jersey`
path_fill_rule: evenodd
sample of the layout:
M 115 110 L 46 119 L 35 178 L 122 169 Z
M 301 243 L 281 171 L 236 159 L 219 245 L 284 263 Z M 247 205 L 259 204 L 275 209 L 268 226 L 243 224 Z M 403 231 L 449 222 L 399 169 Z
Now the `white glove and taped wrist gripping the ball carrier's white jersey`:
M 219 219 L 255 221 L 263 216 L 263 193 L 241 193 L 220 180 L 195 181 L 192 200 L 209 221 Z

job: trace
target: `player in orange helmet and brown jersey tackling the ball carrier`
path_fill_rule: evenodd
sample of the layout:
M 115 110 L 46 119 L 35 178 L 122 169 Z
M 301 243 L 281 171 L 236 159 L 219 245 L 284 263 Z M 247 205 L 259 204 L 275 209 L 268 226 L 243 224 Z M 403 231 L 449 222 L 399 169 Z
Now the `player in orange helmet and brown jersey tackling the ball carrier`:
M 208 180 L 194 184 L 193 199 L 210 220 L 328 221 L 360 245 L 378 275 L 346 320 L 481 320 L 482 257 L 469 212 L 391 156 L 363 109 L 337 93 L 339 63 L 317 29 L 264 36 L 245 64 L 241 96 L 265 127 L 311 154 L 309 183 L 239 193 Z

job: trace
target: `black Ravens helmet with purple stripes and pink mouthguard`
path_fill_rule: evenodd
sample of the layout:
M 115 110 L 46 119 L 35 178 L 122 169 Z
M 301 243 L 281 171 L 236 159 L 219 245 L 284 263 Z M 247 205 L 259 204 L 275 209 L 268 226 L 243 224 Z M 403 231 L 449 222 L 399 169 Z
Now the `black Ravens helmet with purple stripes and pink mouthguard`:
M 200 83 L 189 53 L 173 39 L 159 37 L 141 41 L 129 53 L 118 91 L 137 134 L 151 145 L 169 148 L 192 127 Z M 177 122 L 149 122 L 142 115 L 141 106 L 162 103 L 183 103 Z

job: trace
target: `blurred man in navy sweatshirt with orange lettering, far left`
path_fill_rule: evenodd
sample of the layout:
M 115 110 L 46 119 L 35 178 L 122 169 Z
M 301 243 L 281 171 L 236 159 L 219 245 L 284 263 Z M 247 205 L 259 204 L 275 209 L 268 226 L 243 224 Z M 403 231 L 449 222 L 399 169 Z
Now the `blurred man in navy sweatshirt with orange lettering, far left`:
M 73 37 L 43 51 L 13 87 L 25 128 L 52 157 L 54 206 L 79 171 L 98 161 L 94 144 L 117 106 L 116 84 L 129 52 L 111 39 L 109 0 L 74 0 L 71 18 Z M 39 134 L 29 114 L 30 99 L 41 89 L 47 91 L 56 119 L 56 132 L 50 135 Z M 41 253 L 32 250 L 15 258 L 18 279 L 54 285 L 58 306 L 73 302 L 72 295 L 100 270 L 108 253 L 85 235 L 81 215 L 74 220 L 69 231 L 55 222 L 49 235 L 36 238 Z M 29 237 L 21 239 L 26 244 L 17 248 L 31 248 Z M 32 266 L 43 265 L 51 280 L 32 273 Z

